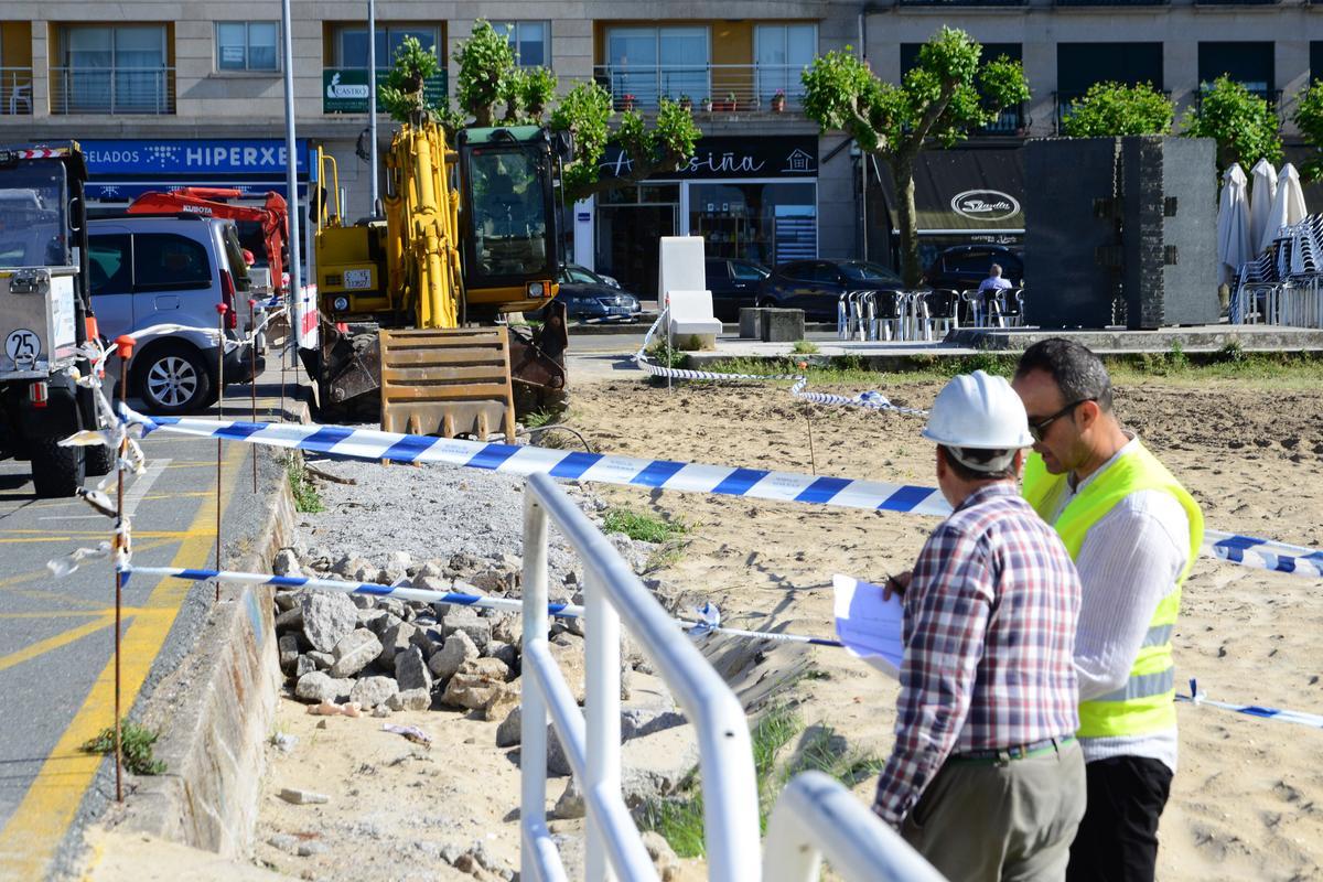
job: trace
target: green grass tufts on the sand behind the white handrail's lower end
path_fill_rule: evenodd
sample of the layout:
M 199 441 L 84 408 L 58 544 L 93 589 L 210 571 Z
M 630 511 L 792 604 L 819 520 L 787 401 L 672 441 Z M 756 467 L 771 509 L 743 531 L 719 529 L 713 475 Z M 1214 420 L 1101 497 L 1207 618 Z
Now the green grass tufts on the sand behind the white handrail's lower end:
M 845 739 L 831 726 L 814 726 L 800 741 L 787 762 L 778 762 L 795 737 L 804 733 L 804 722 L 790 706 L 769 707 L 749 733 L 753 742 L 753 767 L 758 782 L 758 828 L 767 830 L 777 797 L 786 783 L 799 772 L 815 770 L 852 787 L 885 764 L 882 760 L 849 750 Z M 680 795 L 648 800 L 642 808 L 640 826 L 660 833 L 680 857 L 703 857 L 703 789 L 695 767 L 679 788 Z

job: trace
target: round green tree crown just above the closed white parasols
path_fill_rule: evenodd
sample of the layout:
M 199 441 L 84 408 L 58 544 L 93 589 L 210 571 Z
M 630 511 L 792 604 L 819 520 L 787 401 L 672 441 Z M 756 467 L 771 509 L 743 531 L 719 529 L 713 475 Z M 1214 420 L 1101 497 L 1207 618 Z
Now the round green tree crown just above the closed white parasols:
M 1217 141 L 1218 171 L 1232 163 L 1282 161 L 1281 127 L 1267 99 L 1225 75 L 1201 89 L 1199 107 L 1185 116 L 1185 135 Z

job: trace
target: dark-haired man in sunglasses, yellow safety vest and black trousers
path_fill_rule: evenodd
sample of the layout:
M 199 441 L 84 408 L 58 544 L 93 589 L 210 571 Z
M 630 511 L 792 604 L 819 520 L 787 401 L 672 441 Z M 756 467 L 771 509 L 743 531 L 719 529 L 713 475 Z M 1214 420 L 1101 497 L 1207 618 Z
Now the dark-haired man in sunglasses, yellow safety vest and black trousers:
M 1029 346 L 1013 387 L 1035 439 L 1024 497 L 1057 529 L 1084 588 L 1074 666 L 1089 801 L 1066 878 L 1151 881 L 1176 772 L 1171 637 L 1204 518 L 1121 426 L 1088 348 L 1060 337 Z

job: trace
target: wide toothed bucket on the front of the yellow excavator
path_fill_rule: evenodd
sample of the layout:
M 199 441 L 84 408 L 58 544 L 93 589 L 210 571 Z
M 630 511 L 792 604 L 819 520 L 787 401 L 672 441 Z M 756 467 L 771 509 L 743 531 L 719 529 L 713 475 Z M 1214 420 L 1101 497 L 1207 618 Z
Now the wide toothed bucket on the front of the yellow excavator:
M 515 438 L 505 328 L 380 332 L 381 428 Z

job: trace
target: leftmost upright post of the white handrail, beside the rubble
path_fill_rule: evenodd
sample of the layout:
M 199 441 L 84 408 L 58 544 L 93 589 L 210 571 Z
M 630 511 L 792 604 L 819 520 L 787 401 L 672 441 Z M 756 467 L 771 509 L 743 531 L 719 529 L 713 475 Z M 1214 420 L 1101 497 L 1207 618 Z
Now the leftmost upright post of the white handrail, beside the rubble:
M 546 509 L 524 491 L 524 647 L 546 641 Z M 520 877 L 540 879 L 529 830 L 546 822 L 546 698 L 537 677 L 520 678 Z

